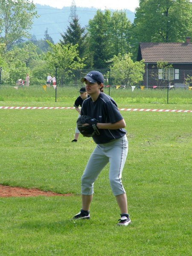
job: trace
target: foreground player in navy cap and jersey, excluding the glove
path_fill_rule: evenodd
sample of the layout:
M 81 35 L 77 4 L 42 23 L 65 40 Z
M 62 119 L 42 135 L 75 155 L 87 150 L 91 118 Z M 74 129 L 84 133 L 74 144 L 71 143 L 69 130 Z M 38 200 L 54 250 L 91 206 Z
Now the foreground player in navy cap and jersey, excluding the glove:
M 93 184 L 102 169 L 110 163 L 109 180 L 113 195 L 121 211 L 119 226 L 131 223 L 127 210 L 127 197 L 122 185 L 122 170 L 128 154 L 125 120 L 119 112 L 116 102 L 103 93 L 104 77 L 98 71 L 91 71 L 81 79 L 90 98 L 85 99 L 81 115 L 98 120 L 96 124 L 100 135 L 94 135 L 96 148 L 90 156 L 81 177 L 82 208 L 73 219 L 89 219 L 90 204 L 93 199 Z M 86 124 L 85 124 L 86 125 Z

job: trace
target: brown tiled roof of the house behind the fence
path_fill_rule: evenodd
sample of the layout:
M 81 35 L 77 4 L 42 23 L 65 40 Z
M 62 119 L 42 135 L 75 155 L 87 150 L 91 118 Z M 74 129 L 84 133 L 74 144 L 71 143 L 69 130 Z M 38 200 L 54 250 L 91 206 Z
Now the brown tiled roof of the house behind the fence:
M 146 63 L 192 63 L 192 43 L 140 43 Z

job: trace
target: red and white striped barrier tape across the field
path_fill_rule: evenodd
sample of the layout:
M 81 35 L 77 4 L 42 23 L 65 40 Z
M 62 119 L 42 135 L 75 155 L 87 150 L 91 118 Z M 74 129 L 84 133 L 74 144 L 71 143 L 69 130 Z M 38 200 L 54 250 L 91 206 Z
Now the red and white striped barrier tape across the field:
M 74 107 L 0 107 L 0 109 L 74 109 Z M 151 108 L 119 108 L 119 111 L 151 111 L 151 112 L 187 112 L 192 110 L 176 110 L 176 109 L 151 109 Z

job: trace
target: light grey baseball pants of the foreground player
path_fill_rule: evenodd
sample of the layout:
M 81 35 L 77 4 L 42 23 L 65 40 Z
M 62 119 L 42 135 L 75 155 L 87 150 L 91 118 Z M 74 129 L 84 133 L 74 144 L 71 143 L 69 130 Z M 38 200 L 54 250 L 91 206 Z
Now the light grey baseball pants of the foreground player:
M 109 181 L 113 195 L 124 194 L 125 189 L 121 177 L 127 154 L 128 140 L 126 135 L 109 143 L 97 144 L 81 177 L 81 194 L 93 194 L 93 184 L 107 163 L 110 163 Z

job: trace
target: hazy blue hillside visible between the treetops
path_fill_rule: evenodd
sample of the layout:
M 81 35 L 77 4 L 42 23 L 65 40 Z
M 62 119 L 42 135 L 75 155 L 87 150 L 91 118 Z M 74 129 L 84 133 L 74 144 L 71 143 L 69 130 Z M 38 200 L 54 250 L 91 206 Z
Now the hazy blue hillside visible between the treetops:
M 34 19 L 34 23 L 30 33 L 36 36 L 37 39 L 44 38 L 44 32 L 48 28 L 48 34 L 52 37 L 55 43 L 58 43 L 61 38 L 60 33 L 66 31 L 67 26 L 69 26 L 70 20 L 70 6 L 63 7 L 63 9 L 57 9 L 51 6 L 36 4 L 39 18 Z M 110 9 L 111 12 L 115 10 Z M 96 8 L 85 8 L 76 7 L 76 15 L 78 15 L 79 23 L 81 26 L 87 26 L 88 21 L 93 19 L 96 14 Z M 128 19 L 134 21 L 134 12 L 125 9 Z

